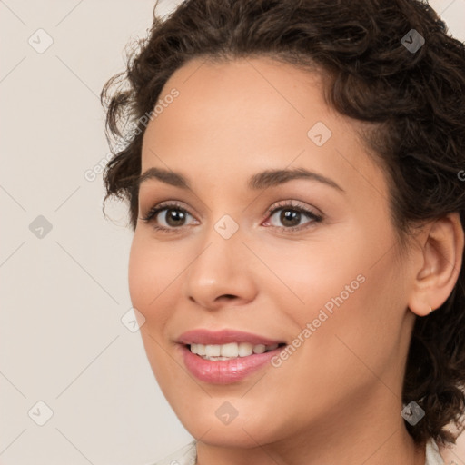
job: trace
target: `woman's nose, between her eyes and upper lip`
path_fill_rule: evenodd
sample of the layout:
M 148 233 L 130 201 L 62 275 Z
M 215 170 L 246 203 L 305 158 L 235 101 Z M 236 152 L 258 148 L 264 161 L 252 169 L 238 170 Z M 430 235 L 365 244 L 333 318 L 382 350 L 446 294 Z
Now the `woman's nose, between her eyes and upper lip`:
M 183 297 L 207 310 L 251 302 L 257 292 L 253 255 L 239 229 L 225 239 L 212 227 L 183 274 Z M 259 270 L 257 270 L 259 271 Z

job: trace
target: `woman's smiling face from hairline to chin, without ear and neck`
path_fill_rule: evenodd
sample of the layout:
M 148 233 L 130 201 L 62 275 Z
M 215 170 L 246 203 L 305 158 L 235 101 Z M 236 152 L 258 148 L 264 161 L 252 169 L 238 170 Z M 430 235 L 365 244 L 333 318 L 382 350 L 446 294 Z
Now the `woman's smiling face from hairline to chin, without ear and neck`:
M 140 184 L 139 217 L 164 209 L 137 223 L 129 286 L 186 429 L 255 447 L 375 419 L 401 426 L 411 272 L 396 257 L 385 175 L 324 103 L 320 75 L 195 59 L 158 104 L 142 173 L 164 174 Z M 188 342 L 229 358 L 204 360 Z

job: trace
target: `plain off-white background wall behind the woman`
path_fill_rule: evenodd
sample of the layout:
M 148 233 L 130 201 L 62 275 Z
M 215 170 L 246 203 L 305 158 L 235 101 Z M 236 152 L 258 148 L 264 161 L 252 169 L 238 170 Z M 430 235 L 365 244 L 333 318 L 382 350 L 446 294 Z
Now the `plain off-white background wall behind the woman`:
M 84 177 L 109 152 L 98 95 L 124 69 L 125 45 L 147 34 L 153 5 L 0 0 L 2 465 L 147 464 L 192 439 L 121 321 L 126 208 L 107 203 L 105 220 L 102 174 Z M 430 5 L 465 40 L 465 0 Z M 43 426 L 38 401 L 53 411 Z

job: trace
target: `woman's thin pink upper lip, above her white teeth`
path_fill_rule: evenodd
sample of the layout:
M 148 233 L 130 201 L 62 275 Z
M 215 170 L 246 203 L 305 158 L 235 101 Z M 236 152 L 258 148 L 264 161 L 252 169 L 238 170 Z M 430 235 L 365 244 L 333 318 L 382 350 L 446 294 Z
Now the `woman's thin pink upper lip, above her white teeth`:
M 229 342 L 249 342 L 252 345 L 274 345 L 284 343 L 283 341 L 272 340 L 251 332 L 237 330 L 210 331 L 197 329 L 186 331 L 178 338 L 181 344 L 215 344 L 222 345 Z

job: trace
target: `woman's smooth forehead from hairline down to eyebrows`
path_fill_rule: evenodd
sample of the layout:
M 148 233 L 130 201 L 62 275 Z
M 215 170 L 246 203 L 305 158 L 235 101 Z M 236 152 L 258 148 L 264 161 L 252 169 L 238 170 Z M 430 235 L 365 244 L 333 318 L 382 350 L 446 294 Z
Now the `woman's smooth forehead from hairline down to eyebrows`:
M 163 87 L 143 138 L 142 172 L 159 166 L 205 177 L 209 171 L 249 175 L 295 160 L 332 173 L 342 186 L 360 186 L 365 177 L 382 190 L 382 173 L 367 156 L 357 122 L 325 103 L 324 79 L 269 58 L 192 60 Z

